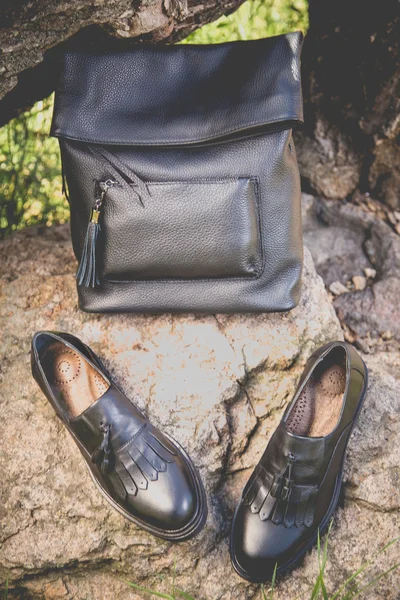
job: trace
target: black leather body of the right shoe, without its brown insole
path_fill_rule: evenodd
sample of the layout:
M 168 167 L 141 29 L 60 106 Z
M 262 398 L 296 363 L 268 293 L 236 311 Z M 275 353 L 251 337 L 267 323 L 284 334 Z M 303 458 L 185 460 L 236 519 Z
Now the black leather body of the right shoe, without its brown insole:
M 328 353 L 346 352 L 346 391 L 339 421 L 325 437 L 302 437 L 286 422 L 308 379 Z M 335 342 L 308 360 L 292 402 L 274 432 L 242 494 L 235 513 L 232 562 L 251 581 L 272 577 L 294 562 L 315 541 L 330 518 L 340 490 L 344 452 L 366 386 L 362 359 L 350 345 Z

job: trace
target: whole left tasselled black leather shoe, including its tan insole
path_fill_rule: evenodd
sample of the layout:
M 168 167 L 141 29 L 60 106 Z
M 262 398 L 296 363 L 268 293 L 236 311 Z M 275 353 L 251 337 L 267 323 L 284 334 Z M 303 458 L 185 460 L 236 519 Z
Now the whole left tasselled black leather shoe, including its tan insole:
M 200 531 L 207 503 L 190 458 L 112 383 L 88 346 L 66 333 L 39 332 L 32 374 L 118 512 L 170 541 Z

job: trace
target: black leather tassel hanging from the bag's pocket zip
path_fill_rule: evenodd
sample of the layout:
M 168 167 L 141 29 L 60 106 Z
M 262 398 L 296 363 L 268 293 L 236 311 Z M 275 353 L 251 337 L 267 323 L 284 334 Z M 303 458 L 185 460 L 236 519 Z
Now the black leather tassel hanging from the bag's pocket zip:
M 76 273 L 76 279 L 79 286 L 94 288 L 96 285 L 100 284 L 96 259 L 96 245 L 100 233 L 100 211 L 108 189 L 115 184 L 116 181 L 113 181 L 112 179 L 100 182 L 99 184 L 101 189 L 100 198 L 96 200 L 96 204 L 90 213 L 82 256 Z

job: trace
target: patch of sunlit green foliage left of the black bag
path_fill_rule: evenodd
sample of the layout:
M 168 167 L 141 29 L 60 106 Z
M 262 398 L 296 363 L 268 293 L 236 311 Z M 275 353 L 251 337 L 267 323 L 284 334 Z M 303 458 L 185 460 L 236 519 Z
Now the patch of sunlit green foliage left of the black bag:
M 64 223 L 58 143 L 48 136 L 53 99 L 0 129 L 0 239 L 29 225 Z

